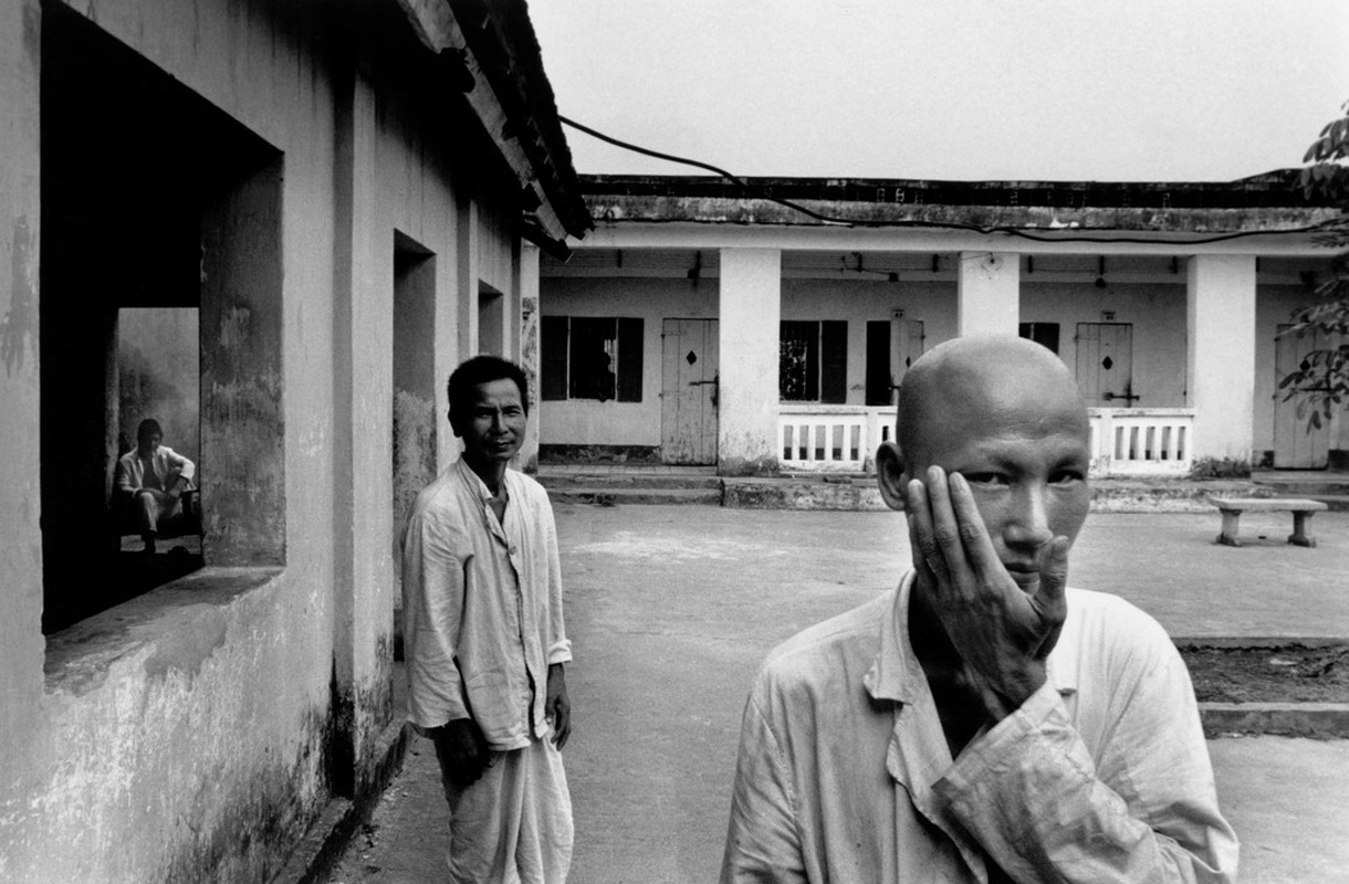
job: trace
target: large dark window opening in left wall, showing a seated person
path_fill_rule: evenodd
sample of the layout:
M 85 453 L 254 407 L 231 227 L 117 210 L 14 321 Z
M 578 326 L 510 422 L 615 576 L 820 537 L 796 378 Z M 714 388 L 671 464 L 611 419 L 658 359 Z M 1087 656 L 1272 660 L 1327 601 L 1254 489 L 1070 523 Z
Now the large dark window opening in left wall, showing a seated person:
M 202 563 L 281 561 L 281 175 L 279 154 L 59 3 L 40 82 L 50 633 Z

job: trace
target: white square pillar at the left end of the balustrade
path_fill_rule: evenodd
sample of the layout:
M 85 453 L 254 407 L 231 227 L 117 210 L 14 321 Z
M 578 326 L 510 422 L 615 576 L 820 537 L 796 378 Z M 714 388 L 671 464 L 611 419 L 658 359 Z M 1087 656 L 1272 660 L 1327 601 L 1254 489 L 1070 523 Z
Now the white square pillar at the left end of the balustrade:
M 776 473 L 781 249 L 722 249 L 719 298 L 718 472 Z

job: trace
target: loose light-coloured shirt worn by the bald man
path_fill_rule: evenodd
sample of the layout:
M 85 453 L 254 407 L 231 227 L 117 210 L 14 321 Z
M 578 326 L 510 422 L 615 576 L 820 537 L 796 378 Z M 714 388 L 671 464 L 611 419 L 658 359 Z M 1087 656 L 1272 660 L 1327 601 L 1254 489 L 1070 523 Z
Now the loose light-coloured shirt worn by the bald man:
M 1148 614 L 1067 590 L 1048 681 L 952 760 L 908 635 L 912 574 L 765 663 L 722 881 L 1236 880 L 1184 663 Z M 1006 880 L 994 876 L 992 880 Z

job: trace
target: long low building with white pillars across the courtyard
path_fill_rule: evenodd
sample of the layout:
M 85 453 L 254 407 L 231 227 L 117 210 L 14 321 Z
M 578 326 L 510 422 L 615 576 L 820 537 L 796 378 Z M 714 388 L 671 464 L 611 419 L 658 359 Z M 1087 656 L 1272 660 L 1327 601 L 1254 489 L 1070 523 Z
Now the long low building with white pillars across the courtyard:
M 599 226 L 542 264 L 542 364 L 569 372 L 545 377 L 545 457 L 866 469 L 913 358 L 1020 333 L 1075 372 L 1097 474 L 1323 468 L 1349 426 L 1309 433 L 1284 402 L 1315 342 L 1280 332 L 1330 272 L 1314 230 L 1338 212 L 1295 178 L 585 177 Z

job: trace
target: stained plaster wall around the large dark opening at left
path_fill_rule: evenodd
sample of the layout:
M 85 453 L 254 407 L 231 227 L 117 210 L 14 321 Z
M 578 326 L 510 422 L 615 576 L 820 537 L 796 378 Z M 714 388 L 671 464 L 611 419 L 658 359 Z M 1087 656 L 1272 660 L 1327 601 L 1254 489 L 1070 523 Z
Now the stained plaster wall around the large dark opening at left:
M 308 35 L 322 23 L 302 16 L 326 4 L 71 8 L 96 12 L 98 28 L 277 162 L 208 210 L 208 228 L 235 225 L 202 267 L 208 566 L 45 644 L 32 445 L 43 7 L 0 4 L 0 441 L 11 451 L 0 464 L 0 880 L 266 880 L 333 794 L 362 788 L 389 720 L 394 230 L 437 255 L 442 379 L 465 315 L 452 191 L 486 178 L 491 203 L 495 167 L 433 162 L 452 154 L 442 139 L 455 125 L 425 133 L 399 110 L 402 84 L 320 57 Z M 507 205 L 488 217 L 514 201 L 513 187 L 499 191 Z M 262 217 L 272 209 L 274 221 Z M 240 244 L 248 212 L 262 213 L 259 241 Z M 515 260 L 503 230 L 482 236 Z

